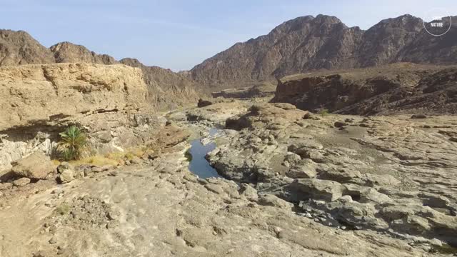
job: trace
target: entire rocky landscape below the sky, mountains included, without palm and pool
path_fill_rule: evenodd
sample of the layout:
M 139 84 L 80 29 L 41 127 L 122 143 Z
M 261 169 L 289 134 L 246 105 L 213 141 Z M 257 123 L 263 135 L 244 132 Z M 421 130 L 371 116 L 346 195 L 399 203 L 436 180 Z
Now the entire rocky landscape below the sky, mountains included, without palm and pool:
M 456 30 L 421 22 L 299 17 L 189 73 L 1 30 L 0 256 L 456 256 Z

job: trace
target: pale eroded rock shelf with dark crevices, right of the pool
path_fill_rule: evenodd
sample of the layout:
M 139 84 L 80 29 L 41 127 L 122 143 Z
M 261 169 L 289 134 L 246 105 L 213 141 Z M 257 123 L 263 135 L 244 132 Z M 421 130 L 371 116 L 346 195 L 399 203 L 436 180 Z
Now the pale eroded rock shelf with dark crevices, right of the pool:
M 256 104 L 226 119 L 208 159 L 221 175 L 294 203 L 326 226 L 411 246 L 456 246 L 454 116 L 316 116 Z

